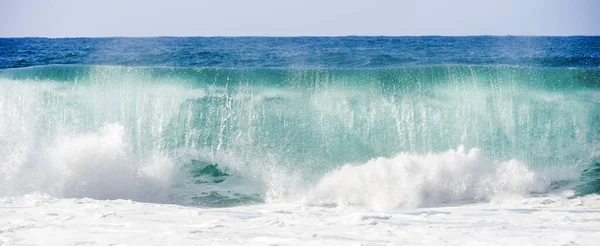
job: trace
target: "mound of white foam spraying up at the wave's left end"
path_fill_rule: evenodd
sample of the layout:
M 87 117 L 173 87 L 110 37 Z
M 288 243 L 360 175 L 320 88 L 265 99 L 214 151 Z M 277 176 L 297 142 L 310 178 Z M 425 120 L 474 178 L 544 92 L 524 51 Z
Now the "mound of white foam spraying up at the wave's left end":
M 156 154 L 149 160 L 134 156 L 120 124 L 98 132 L 58 137 L 40 160 L 22 167 L 13 193 L 43 192 L 56 197 L 95 199 L 166 199 L 173 163 Z

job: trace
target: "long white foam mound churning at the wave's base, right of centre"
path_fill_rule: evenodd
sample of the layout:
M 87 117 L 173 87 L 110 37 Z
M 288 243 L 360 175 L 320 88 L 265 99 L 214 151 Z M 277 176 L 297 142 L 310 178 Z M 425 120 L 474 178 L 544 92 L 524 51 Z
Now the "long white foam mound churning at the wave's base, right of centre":
M 478 149 L 400 153 L 346 165 L 321 180 L 304 198 L 310 205 L 374 209 L 490 201 L 497 196 L 544 192 L 549 181 L 517 160 L 497 162 Z

